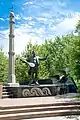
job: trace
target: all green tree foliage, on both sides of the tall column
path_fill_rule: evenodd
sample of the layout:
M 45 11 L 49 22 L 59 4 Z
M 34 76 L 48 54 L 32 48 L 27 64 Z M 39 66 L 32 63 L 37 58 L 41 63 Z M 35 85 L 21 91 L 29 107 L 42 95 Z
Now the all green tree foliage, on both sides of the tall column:
M 44 57 L 48 55 L 48 59 L 40 61 L 39 79 L 47 78 L 56 74 L 58 69 L 69 68 L 74 79 L 80 80 L 80 21 L 76 26 L 77 36 L 67 34 L 62 37 L 57 36 L 55 39 L 45 40 L 42 45 L 31 42 L 27 44 L 25 50 L 19 55 L 21 58 L 27 59 L 31 55 L 31 51 L 36 51 L 36 55 Z M 8 58 L 0 51 L 0 80 L 6 81 L 8 76 Z M 28 80 L 28 65 L 21 61 L 15 61 L 16 80 Z

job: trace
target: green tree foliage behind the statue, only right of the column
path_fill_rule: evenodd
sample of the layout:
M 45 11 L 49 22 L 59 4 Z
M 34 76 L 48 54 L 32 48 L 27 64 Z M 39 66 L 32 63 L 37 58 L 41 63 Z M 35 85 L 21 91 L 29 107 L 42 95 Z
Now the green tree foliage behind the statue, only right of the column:
M 32 50 L 35 50 L 36 54 L 40 57 L 48 54 L 48 59 L 40 62 L 39 78 L 47 78 L 56 74 L 56 70 L 68 67 L 71 70 L 72 76 L 76 79 L 80 79 L 80 76 L 78 75 L 80 67 L 79 63 L 76 62 L 80 53 L 79 41 L 79 36 L 70 34 L 62 37 L 56 37 L 55 40 L 45 40 L 45 43 L 42 45 L 32 45 L 29 43 L 26 46 L 25 51 L 22 53 L 22 57 L 27 58 L 30 56 Z M 27 74 L 28 66 L 25 64 L 23 65 L 22 63 L 18 64 L 16 66 L 16 68 L 18 67 L 16 69 L 16 73 L 20 71 L 19 76 L 21 76 L 21 79 L 29 79 Z

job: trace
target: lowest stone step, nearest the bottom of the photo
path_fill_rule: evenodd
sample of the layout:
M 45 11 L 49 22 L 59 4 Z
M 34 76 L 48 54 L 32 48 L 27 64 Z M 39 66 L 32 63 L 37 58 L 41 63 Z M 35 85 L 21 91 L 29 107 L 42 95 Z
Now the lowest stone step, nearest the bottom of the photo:
M 16 114 L 0 115 L 0 120 L 21 120 L 30 118 L 66 116 L 66 115 L 80 115 L 80 110 L 58 110 L 58 111 L 40 111 L 40 112 L 27 112 Z

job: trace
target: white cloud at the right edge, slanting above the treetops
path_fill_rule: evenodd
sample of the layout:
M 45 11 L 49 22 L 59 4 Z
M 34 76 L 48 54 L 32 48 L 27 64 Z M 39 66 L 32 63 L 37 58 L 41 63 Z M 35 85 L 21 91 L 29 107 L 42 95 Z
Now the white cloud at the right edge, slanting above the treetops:
M 80 13 L 72 14 L 69 18 L 63 19 L 59 24 L 50 27 L 51 30 L 55 31 L 57 35 L 62 35 L 71 32 L 75 29 L 78 20 L 80 19 Z

